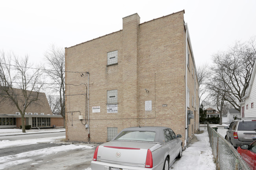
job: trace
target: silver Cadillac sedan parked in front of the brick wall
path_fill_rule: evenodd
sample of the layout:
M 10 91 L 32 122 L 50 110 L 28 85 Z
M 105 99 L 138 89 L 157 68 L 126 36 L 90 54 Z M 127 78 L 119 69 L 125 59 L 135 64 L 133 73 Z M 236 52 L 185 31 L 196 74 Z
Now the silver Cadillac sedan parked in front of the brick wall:
M 92 170 L 169 170 L 182 157 L 181 135 L 167 127 L 132 127 L 99 145 Z

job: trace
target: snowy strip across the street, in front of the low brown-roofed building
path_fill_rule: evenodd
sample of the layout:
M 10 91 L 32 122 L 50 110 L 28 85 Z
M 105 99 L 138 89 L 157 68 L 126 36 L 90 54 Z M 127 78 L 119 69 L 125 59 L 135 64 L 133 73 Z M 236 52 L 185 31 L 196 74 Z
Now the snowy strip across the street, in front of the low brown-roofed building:
M 26 133 L 22 133 L 22 129 L 0 129 L 0 136 L 11 136 L 11 135 L 28 135 L 34 133 L 56 133 L 65 132 L 65 128 L 56 129 L 30 129 L 26 130 Z

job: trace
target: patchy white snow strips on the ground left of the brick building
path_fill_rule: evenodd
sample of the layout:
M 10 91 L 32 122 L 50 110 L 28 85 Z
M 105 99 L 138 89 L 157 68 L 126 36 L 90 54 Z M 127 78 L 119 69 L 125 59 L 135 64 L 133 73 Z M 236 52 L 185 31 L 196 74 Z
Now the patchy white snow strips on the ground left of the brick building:
M 42 129 L 42 130 L 26 130 L 26 133 L 52 133 L 52 132 L 63 132 L 63 131 L 65 131 L 65 129 Z M 24 133 L 22 133 L 22 130 L 20 129 L 0 129 L 0 135 L 1 136 L 24 135 Z M 39 138 L 39 139 L 14 140 L 14 141 L 2 140 L 0 141 L 0 149 L 28 145 L 28 144 L 36 144 L 36 143 L 42 143 L 42 142 L 56 143 L 56 142 L 59 142 L 60 139 L 65 139 L 65 136 L 47 137 L 47 138 Z M 26 163 L 28 163 L 29 166 L 35 166 L 40 161 L 35 162 L 33 161 L 33 158 L 41 158 L 43 160 L 43 159 L 46 159 L 46 157 L 49 157 L 50 155 L 55 155 L 59 152 L 70 152 L 71 150 L 75 152 L 75 150 L 86 150 L 86 149 L 92 149 L 92 148 L 94 147 L 85 145 L 85 144 L 68 144 L 68 145 L 61 145 L 56 147 L 28 151 L 28 152 L 22 152 L 20 154 L 8 155 L 8 156 L 2 156 L 2 157 L 0 154 L 0 170 L 14 169 Z M 93 157 L 93 155 L 91 157 Z M 69 159 L 72 160 L 75 158 L 72 158 L 72 156 L 70 155 Z M 30 163 L 30 162 L 33 162 L 33 163 Z M 57 164 L 58 163 L 56 163 L 56 166 Z

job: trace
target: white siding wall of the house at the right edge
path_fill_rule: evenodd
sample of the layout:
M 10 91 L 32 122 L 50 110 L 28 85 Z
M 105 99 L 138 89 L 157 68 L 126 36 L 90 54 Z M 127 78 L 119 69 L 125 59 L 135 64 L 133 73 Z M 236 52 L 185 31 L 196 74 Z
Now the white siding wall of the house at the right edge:
M 254 107 L 251 107 L 251 103 L 254 103 Z M 248 109 L 246 109 L 246 105 L 248 104 Z M 252 88 L 250 90 L 249 97 L 245 99 L 245 104 L 241 105 L 241 115 L 242 115 L 242 107 L 245 107 L 245 117 L 256 117 L 256 80 L 255 76 L 252 82 Z

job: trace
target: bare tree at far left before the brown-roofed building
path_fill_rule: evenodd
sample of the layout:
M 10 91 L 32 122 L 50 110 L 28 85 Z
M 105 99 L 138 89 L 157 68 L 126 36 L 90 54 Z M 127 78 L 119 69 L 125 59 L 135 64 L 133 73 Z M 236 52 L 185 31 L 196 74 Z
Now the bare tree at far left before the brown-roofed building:
M 12 60 L 13 58 L 13 60 Z M 24 115 L 31 104 L 39 104 L 39 91 L 43 86 L 41 69 L 30 69 L 28 56 L 20 59 L 14 54 L 0 53 L 1 102 L 14 104 L 20 112 L 22 132 L 25 133 Z

